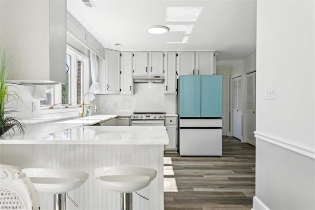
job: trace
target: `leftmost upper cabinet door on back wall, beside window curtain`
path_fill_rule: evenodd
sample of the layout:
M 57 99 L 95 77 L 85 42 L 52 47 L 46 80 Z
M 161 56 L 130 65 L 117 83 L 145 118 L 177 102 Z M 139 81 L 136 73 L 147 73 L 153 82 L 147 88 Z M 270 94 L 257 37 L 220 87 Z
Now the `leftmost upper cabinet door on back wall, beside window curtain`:
M 120 94 L 120 51 L 106 49 L 105 94 Z

